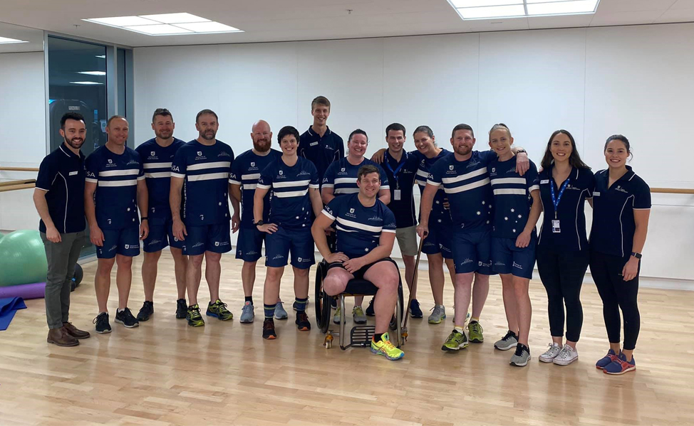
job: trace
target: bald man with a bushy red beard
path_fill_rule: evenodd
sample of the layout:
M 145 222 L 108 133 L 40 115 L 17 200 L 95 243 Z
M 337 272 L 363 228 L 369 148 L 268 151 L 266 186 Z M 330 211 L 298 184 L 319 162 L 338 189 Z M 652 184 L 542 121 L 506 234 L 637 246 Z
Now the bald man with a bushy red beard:
M 264 120 L 253 124 L 251 129 L 253 149 L 249 149 L 234 159 L 232 174 L 229 176 L 229 194 L 241 203 L 241 225 L 237 240 L 236 258 L 244 261 L 241 270 L 241 280 L 244 286 L 244 307 L 241 312 L 241 322 L 253 322 L 253 285 L 255 282 L 255 267 L 260 259 L 266 233 L 261 233 L 253 225 L 253 196 L 260 179 L 260 172 L 272 161 L 282 156 L 280 151 L 270 149 L 272 132 L 270 125 Z M 268 220 L 270 211 L 270 193 L 264 199 L 263 220 Z M 278 301 L 275 305 L 275 318 L 287 319 L 287 313 Z

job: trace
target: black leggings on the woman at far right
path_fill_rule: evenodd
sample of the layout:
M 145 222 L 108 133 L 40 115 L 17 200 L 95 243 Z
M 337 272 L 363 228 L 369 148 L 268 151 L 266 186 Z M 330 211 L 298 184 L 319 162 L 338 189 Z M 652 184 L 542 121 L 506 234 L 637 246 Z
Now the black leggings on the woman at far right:
M 619 343 L 621 331 L 619 309 L 621 309 L 624 317 L 624 349 L 631 351 L 636 347 L 638 330 L 641 328 L 641 316 L 638 314 L 636 304 L 641 262 L 638 265 L 636 278 L 624 281 L 621 273 L 627 260 L 628 257 L 606 255 L 591 250 L 591 275 L 602 299 L 607 337 L 611 344 Z

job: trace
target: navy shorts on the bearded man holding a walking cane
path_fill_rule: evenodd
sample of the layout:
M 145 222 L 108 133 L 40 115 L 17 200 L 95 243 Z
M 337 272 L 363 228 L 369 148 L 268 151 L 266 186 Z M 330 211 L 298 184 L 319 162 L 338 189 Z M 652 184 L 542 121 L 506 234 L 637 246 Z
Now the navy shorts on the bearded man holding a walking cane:
M 450 232 L 453 261 L 456 274 L 479 272 L 494 275 L 492 271 L 492 231 L 466 232 L 455 229 Z

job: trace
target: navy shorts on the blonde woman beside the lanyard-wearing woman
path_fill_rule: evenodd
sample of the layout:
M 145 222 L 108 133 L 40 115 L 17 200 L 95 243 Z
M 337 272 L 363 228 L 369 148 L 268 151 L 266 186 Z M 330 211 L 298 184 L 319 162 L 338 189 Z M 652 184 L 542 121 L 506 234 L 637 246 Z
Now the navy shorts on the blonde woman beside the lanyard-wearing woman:
M 516 247 L 516 238 L 492 238 L 492 270 L 497 274 L 532 279 L 536 243 L 537 235 L 534 233 L 530 244 L 524 248 Z

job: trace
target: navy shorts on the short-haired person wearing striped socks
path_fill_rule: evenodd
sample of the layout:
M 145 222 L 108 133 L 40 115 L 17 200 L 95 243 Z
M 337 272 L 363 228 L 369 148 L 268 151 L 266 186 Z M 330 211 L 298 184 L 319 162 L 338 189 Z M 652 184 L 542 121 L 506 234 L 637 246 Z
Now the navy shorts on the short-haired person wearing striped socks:
M 306 270 L 316 263 L 311 228 L 286 229 L 265 235 L 265 266 L 284 267 L 291 252 L 291 266 Z

